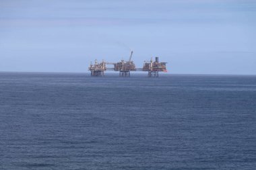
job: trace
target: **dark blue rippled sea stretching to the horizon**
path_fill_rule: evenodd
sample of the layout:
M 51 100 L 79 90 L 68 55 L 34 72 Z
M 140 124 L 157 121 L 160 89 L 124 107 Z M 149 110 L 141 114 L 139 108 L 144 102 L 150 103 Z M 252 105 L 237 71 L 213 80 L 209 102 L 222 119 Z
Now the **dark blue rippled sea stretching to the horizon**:
M 0 169 L 255 169 L 256 76 L 0 73 Z

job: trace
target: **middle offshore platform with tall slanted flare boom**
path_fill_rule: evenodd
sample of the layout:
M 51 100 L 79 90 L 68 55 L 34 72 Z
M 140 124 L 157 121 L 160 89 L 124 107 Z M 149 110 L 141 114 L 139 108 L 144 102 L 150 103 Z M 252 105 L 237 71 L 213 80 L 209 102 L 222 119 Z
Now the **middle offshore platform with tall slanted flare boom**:
M 121 62 L 114 64 L 114 71 L 119 71 L 120 77 L 130 77 L 130 71 L 136 71 L 135 64 L 131 60 L 132 55 L 133 51 L 131 51 L 131 55 L 128 61 L 121 60 Z

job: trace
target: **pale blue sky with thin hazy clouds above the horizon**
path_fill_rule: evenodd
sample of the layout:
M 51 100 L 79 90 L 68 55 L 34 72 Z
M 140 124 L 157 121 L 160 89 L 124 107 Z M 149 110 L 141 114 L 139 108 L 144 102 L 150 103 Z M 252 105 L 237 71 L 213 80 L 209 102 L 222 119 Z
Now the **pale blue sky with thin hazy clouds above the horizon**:
M 0 71 L 85 73 L 131 49 L 137 68 L 256 75 L 256 1 L 0 0 Z

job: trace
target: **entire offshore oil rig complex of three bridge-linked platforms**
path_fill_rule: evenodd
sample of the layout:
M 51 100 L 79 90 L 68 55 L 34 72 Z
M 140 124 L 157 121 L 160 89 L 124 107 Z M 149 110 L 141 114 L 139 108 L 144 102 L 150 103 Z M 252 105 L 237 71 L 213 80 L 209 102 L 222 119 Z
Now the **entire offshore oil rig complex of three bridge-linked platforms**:
M 167 72 L 166 63 L 167 62 L 159 62 L 158 57 L 153 61 L 152 58 L 150 61 L 144 61 L 142 69 L 136 69 L 133 60 L 131 60 L 131 56 L 133 55 L 133 51 L 131 51 L 131 55 L 128 61 L 121 60 L 120 62 L 98 62 L 95 60 L 94 64 L 90 64 L 88 68 L 91 72 L 91 76 L 104 76 L 104 71 L 119 71 L 119 77 L 130 77 L 131 71 L 148 71 L 148 77 L 158 77 L 159 72 Z M 107 65 L 113 65 L 114 67 L 107 67 Z

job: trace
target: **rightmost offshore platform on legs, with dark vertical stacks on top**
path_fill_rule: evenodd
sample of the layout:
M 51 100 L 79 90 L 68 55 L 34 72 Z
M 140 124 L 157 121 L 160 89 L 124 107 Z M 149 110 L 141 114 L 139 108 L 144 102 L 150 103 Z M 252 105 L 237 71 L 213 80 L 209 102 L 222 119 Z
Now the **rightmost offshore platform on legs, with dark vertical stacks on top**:
M 142 71 L 148 71 L 148 77 L 158 77 L 158 72 L 167 72 L 166 70 L 167 62 L 159 62 L 158 57 L 153 62 L 152 58 L 150 61 L 145 61 Z

